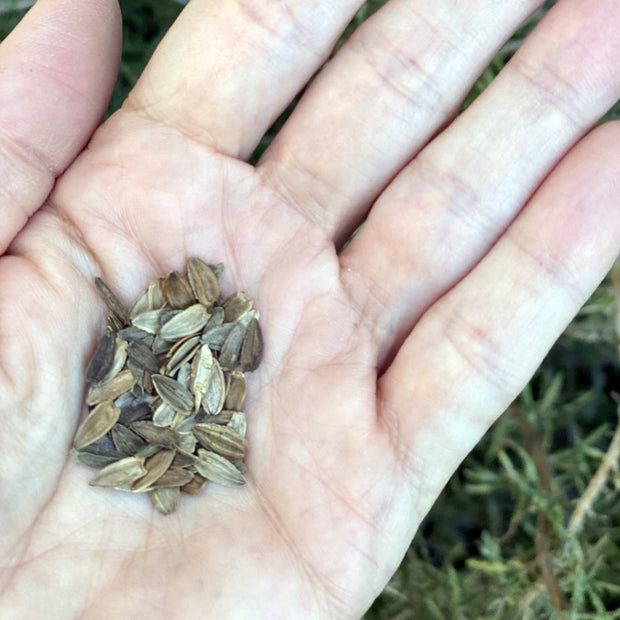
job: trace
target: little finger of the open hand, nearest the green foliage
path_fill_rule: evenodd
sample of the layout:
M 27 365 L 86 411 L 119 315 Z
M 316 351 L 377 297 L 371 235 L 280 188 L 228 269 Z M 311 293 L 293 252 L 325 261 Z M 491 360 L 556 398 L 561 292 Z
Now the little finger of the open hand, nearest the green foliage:
M 380 380 L 381 420 L 422 514 L 613 264 L 619 179 L 615 123 L 562 161 L 484 260 L 422 317 Z

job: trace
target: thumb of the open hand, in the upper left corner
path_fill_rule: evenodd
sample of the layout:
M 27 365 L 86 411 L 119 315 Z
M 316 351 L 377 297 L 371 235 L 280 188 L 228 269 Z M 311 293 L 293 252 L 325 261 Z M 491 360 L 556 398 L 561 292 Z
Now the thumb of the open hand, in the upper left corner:
M 120 57 L 115 0 L 39 0 L 0 46 L 0 252 L 105 112 Z

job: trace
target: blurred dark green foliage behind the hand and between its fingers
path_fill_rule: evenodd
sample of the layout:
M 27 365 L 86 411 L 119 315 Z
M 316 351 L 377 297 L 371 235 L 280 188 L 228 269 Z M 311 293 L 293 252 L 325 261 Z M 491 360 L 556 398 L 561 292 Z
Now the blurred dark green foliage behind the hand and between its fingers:
M 360 8 L 336 50 L 385 2 Z M 186 3 L 121 0 L 123 56 L 108 114 Z M 32 4 L 0 0 L 0 39 Z M 553 4 L 504 45 L 463 107 Z M 619 103 L 603 120 L 611 119 L 620 119 Z M 367 620 L 620 619 L 619 296 L 620 264 L 455 473 Z

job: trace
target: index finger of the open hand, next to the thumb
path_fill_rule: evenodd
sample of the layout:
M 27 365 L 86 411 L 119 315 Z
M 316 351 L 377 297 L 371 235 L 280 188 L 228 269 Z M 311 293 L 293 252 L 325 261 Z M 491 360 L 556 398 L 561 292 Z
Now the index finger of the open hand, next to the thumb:
M 360 4 L 194 0 L 125 109 L 245 158 L 325 61 Z

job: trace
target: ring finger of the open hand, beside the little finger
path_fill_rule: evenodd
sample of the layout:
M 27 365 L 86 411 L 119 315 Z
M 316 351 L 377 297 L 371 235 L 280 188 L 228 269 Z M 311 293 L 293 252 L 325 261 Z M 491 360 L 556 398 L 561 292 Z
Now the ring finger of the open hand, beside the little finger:
M 568 0 L 556 9 L 396 178 L 343 253 L 356 301 L 384 342 L 399 342 L 484 256 L 620 96 L 620 4 Z

